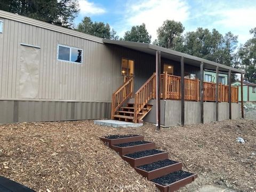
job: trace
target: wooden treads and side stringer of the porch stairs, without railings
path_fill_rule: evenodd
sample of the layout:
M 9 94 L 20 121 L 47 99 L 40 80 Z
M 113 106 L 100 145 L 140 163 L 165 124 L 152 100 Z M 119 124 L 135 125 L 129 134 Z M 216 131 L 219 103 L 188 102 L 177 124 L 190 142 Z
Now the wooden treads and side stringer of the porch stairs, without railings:
M 143 122 L 143 118 L 149 113 L 153 105 L 146 104 L 141 111 L 137 114 L 137 122 Z M 116 114 L 114 115 L 114 119 L 118 119 L 119 121 L 125 122 L 133 122 L 134 120 L 134 102 L 129 102 L 125 107 L 121 107 Z

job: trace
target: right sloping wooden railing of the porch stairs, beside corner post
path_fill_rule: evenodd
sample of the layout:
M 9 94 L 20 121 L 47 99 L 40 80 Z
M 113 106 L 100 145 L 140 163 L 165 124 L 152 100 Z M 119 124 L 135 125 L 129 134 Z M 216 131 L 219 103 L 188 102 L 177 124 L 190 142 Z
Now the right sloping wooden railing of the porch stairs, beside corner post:
M 154 73 L 147 81 L 144 83 L 140 89 L 135 93 L 134 102 L 134 122 L 137 122 L 137 117 L 139 112 L 147 104 L 150 99 L 154 99 L 156 95 L 156 74 Z

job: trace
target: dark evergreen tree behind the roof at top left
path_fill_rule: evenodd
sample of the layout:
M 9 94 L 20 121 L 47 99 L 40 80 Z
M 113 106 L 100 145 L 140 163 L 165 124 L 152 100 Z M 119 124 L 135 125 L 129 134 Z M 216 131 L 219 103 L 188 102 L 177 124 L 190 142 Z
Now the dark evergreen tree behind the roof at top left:
M 2 0 L 0 9 L 63 27 L 73 27 L 78 0 Z

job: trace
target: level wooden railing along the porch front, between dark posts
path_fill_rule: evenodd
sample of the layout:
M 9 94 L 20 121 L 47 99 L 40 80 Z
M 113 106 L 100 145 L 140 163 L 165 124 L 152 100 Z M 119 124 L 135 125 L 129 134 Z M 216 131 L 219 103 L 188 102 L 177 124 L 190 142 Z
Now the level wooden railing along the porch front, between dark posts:
M 161 75 L 161 99 L 181 99 L 179 76 Z M 200 81 L 198 79 L 184 79 L 185 100 L 199 101 Z M 215 101 L 216 84 L 204 82 L 204 101 Z M 228 85 L 219 84 L 219 102 L 228 102 Z M 238 89 L 231 87 L 231 102 L 238 102 Z

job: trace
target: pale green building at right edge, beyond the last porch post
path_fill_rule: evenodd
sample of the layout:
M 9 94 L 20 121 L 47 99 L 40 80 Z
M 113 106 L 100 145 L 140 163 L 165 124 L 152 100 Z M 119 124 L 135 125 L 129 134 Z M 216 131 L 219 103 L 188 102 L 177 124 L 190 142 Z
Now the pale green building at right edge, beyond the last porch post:
M 239 88 L 238 101 L 241 101 L 241 81 L 232 83 L 232 86 Z M 243 100 L 244 101 L 256 101 L 256 84 L 243 81 Z

